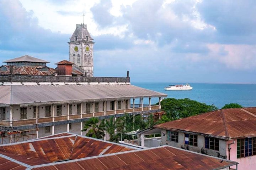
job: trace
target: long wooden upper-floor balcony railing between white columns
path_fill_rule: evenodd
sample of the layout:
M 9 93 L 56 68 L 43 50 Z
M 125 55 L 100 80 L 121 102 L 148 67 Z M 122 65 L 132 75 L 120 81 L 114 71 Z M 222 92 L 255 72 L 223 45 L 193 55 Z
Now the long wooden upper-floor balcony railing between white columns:
M 150 107 L 140 107 L 134 108 L 134 112 L 141 112 L 141 111 L 148 111 Z M 160 106 L 151 106 L 151 110 L 157 110 Z M 125 111 L 125 112 L 124 112 Z M 95 113 L 83 113 L 82 118 L 91 118 L 91 117 L 100 117 L 104 115 L 114 115 L 116 114 L 124 114 L 124 113 L 131 113 L 133 112 L 133 108 L 130 109 L 119 109 L 119 110 L 112 110 L 106 112 L 95 112 Z M 63 121 L 63 120 L 74 120 L 74 119 L 81 119 L 81 114 L 70 114 L 70 115 L 62 115 L 62 116 L 55 116 L 55 117 L 45 117 L 45 118 L 38 118 L 38 119 L 24 119 L 24 120 L 14 120 L 14 121 L 5 121 L 0 120 L 0 126 L 23 126 L 23 125 L 34 125 L 34 124 L 41 124 L 41 123 L 49 123 L 54 121 Z

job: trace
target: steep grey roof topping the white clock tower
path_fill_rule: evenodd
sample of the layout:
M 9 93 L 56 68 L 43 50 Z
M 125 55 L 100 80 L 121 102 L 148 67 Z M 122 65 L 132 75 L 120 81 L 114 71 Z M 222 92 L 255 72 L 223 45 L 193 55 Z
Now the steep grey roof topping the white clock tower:
M 88 36 L 88 40 L 86 36 Z M 70 41 L 75 41 L 75 37 L 77 38 L 77 40 L 87 40 L 87 41 L 93 40 L 90 33 L 87 30 L 86 24 L 76 24 L 75 32 L 70 37 Z

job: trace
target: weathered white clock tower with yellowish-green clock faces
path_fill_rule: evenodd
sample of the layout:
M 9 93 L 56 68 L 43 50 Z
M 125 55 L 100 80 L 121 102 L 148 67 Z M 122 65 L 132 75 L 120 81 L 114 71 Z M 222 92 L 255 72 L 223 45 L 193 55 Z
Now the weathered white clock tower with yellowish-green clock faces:
M 86 24 L 76 24 L 76 29 L 70 37 L 69 61 L 81 70 L 86 77 L 93 77 L 93 46 L 94 43 Z

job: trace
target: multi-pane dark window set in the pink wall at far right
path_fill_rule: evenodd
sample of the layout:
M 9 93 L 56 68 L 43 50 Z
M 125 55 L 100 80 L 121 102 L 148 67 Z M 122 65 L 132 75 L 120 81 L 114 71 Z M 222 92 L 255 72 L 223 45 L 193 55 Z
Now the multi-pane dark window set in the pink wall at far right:
M 237 158 L 256 155 L 256 137 L 237 140 Z

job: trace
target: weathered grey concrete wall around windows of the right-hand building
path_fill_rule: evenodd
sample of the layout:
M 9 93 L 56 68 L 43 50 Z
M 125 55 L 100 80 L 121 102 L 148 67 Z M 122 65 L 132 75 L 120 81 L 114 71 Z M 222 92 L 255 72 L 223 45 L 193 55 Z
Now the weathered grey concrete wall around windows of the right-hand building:
M 165 136 L 163 135 L 165 134 Z M 213 149 L 207 149 L 204 148 L 204 136 L 203 135 L 197 135 L 197 147 L 186 145 L 185 144 L 185 134 L 183 132 L 178 132 L 178 143 L 173 141 L 167 140 L 167 131 L 162 129 L 162 145 L 170 145 L 177 148 L 183 148 L 187 149 L 193 152 L 203 153 L 207 155 L 211 155 L 214 157 L 219 158 L 227 158 L 227 152 L 226 152 L 226 141 L 219 140 L 219 151 L 215 151 Z

